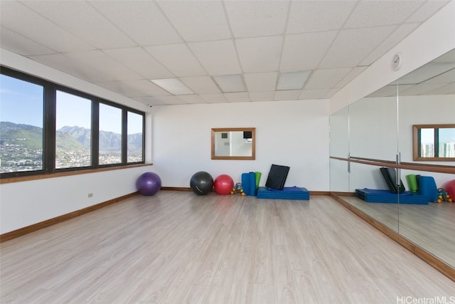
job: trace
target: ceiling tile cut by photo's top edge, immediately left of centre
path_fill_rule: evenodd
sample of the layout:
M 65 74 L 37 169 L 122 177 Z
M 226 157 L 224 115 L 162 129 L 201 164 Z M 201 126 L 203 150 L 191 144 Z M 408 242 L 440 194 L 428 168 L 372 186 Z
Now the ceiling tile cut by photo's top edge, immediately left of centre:
M 231 38 L 221 1 L 157 1 L 185 41 Z

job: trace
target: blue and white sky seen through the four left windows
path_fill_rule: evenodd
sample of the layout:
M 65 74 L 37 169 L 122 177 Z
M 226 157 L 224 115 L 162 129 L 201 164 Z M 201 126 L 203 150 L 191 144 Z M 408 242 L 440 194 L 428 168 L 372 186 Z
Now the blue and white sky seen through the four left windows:
M 66 125 L 91 127 L 91 101 L 57 91 L 57 130 Z M 128 133 L 142 132 L 141 115 L 129 113 Z M 121 110 L 100 105 L 100 130 L 121 133 Z M 0 121 L 43 127 L 43 87 L 0 75 Z

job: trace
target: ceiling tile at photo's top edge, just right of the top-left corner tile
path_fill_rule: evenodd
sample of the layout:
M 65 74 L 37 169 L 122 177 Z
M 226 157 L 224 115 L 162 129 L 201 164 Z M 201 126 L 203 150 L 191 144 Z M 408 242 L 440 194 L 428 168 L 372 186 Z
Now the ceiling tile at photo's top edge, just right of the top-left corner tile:
M 25 1 L 23 3 L 96 48 L 123 48 L 136 44 L 85 1 Z

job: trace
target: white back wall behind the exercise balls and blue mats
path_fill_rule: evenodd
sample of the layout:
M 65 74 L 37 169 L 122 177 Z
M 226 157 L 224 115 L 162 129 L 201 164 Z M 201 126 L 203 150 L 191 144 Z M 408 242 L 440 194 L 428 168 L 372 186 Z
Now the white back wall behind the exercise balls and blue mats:
M 286 187 L 328 191 L 328 100 L 297 100 L 154 107 L 154 170 L 164 187 L 189 187 L 191 176 L 262 172 L 291 167 Z M 255 127 L 256 159 L 210 159 L 213 127 Z

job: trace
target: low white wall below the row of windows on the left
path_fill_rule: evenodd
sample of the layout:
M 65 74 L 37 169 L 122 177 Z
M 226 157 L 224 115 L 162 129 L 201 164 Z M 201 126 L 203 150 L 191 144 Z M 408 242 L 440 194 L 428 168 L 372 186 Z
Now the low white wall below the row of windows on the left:
M 137 167 L 1 184 L 0 234 L 136 192 L 137 177 L 152 170 Z

